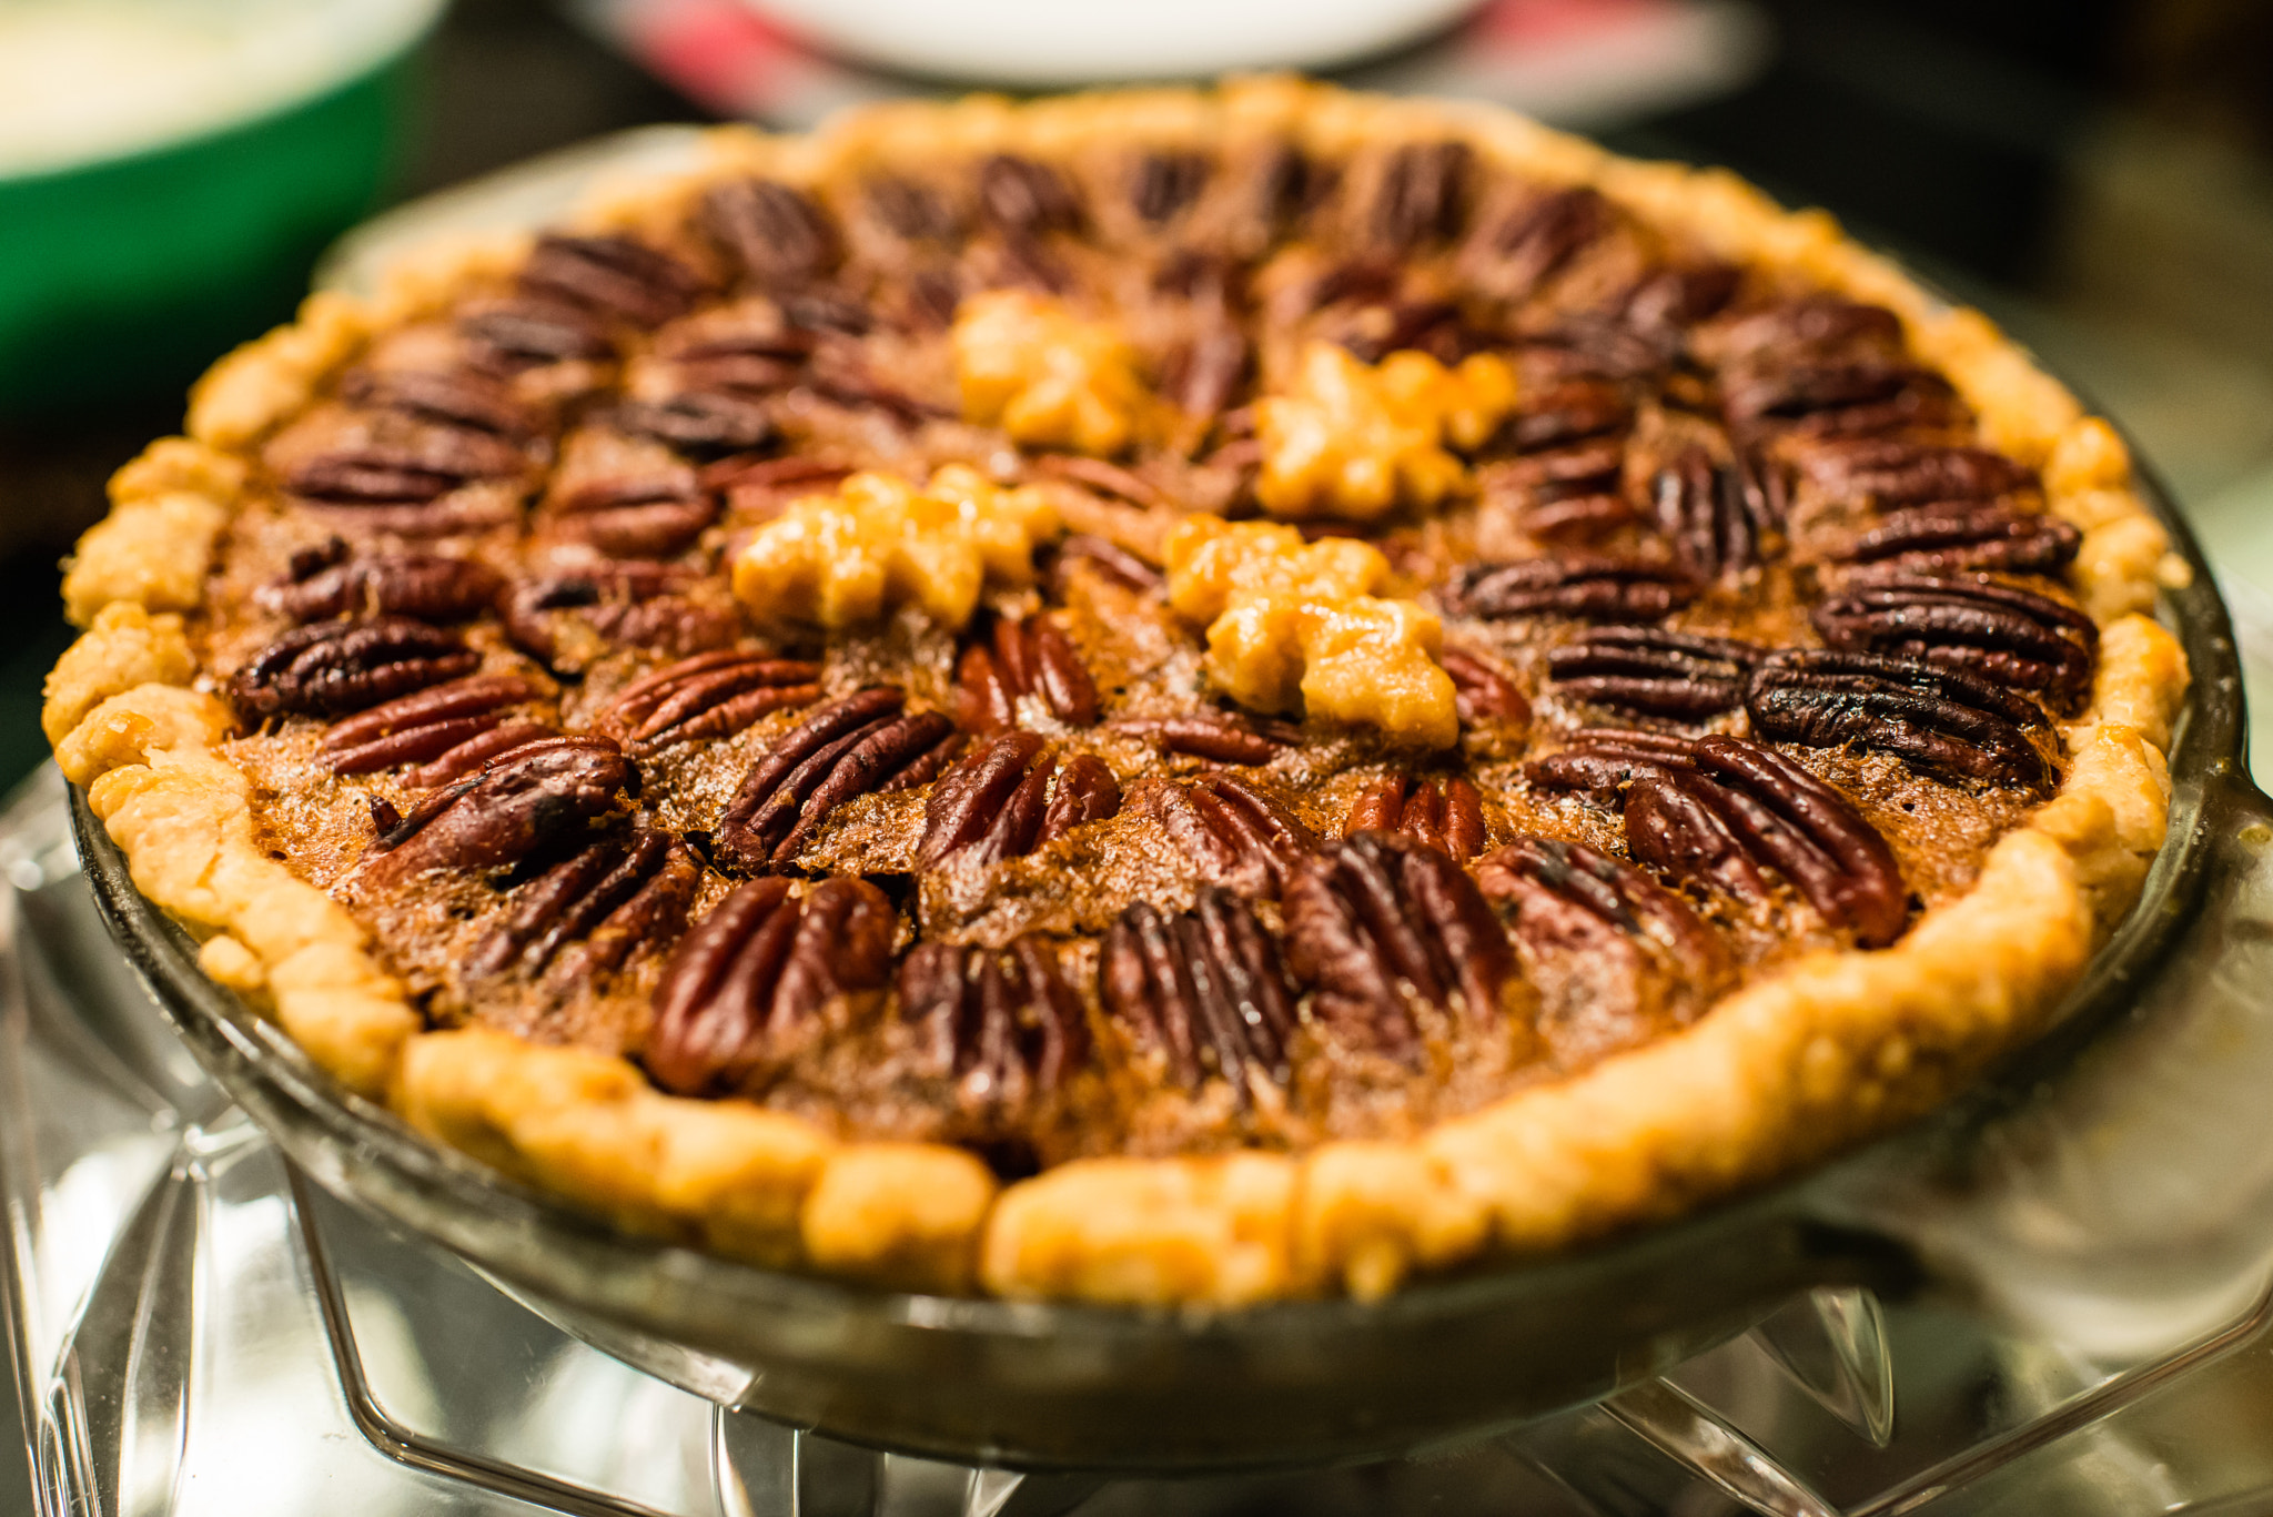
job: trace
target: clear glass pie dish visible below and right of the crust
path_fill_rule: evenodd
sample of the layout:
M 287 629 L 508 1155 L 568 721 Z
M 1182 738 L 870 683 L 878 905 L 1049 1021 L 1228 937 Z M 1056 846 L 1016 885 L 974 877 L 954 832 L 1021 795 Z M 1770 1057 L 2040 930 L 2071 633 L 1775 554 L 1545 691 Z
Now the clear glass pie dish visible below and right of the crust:
M 2171 751 L 2168 842 L 2059 1021 L 1932 1114 L 1759 1189 L 1577 1251 L 1425 1278 L 1380 1303 L 1207 1312 L 927 1296 L 625 1233 L 339 1087 L 198 969 L 189 935 L 134 892 L 77 789 L 70 821 L 111 935 L 200 1064 L 298 1167 L 643 1369 L 855 1442 L 1025 1467 L 1209 1469 L 1407 1451 L 1652 1378 L 1793 1290 L 1916 1280 L 1912 1251 L 1857 1221 L 1841 1196 L 1946 1162 L 1982 1124 L 2055 1083 L 2134 1001 L 2221 842 L 2273 819 L 2241 764 L 2225 605 L 2146 469 L 2139 489 L 2191 566 L 2164 610 L 2193 687 Z M 1155 1426 L 1116 1431 L 1130 1417 Z

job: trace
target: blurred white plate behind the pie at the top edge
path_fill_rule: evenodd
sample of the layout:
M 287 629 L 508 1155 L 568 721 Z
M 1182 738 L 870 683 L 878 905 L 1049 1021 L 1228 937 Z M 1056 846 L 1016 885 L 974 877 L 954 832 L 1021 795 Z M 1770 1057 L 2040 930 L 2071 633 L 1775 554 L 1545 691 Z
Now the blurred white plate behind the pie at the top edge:
M 1323 68 L 1434 32 L 1475 0 L 750 0 L 839 52 L 998 84 Z

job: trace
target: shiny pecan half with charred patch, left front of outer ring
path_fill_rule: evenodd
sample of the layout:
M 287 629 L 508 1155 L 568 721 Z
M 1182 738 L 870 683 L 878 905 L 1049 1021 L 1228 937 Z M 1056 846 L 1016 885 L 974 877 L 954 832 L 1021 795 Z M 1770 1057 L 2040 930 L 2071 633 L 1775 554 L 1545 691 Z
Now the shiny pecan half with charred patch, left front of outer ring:
M 550 737 L 427 796 L 384 832 L 361 871 L 380 882 L 430 869 L 518 864 L 616 810 L 639 771 L 605 737 Z

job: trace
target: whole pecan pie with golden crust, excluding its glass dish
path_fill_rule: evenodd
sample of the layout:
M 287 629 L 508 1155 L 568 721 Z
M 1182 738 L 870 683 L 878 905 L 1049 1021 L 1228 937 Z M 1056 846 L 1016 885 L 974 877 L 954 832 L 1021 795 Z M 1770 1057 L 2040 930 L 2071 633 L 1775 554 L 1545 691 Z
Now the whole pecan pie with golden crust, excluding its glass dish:
M 1241 1303 L 2030 1037 L 2184 691 L 2123 444 L 1718 173 L 1296 82 L 723 130 L 318 293 L 45 726 L 207 971 L 630 1228 Z

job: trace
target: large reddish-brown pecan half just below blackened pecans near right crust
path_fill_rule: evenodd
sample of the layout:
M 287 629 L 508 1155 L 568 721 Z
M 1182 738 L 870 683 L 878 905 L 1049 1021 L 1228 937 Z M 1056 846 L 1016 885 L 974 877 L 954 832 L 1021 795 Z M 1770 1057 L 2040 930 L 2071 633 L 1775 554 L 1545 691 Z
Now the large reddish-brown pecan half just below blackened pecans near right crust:
M 1909 921 L 1903 871 L 1877 828 L 1775 748 L 1734 737 L 1700 737 L 1639 773 L 1625 791 L 1625 844 L 1652 869 L 1739 901 L 1771 901 L 1762 871 L 1780 873 L 1868 948 Z

